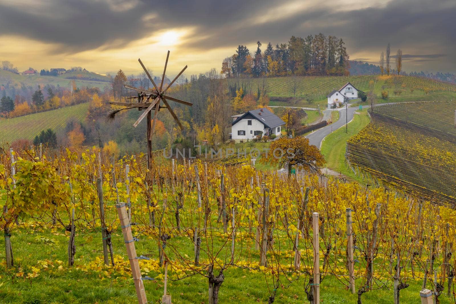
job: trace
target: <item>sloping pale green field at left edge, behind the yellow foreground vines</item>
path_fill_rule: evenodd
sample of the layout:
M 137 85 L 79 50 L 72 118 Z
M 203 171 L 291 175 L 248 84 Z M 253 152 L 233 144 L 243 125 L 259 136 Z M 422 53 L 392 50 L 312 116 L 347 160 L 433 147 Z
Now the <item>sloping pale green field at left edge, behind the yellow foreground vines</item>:
M 87 114 L 88 103 L 60 108 L 42 113 L 30 114 L 12 119 L 0 120 L 0 142 L 13 142 L 16 139 L 33 140 L 43 129 L 57 132 L 65 128 L 70 119 L 83 121 Z

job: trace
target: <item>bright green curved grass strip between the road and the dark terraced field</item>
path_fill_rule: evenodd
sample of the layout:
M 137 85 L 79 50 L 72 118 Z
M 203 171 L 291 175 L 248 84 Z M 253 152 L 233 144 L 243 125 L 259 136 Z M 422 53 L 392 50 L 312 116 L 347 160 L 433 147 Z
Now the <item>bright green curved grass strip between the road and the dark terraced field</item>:
M 353 135 L 358 134 L 369 121 L 367 109 L 361 110 L 359 114 L 355 114 L 352 122 L 348 124 L 348 133 L 345 133 L 345 127 L 342 127 L 323 139 L 321 154 L 325 157 L 328 169 L 342 173 L 351 180 L 363 183 L 363 180 L 354 175 L 353 171 L 345 163 L 345 149 L 347 147 L 347 140 Z

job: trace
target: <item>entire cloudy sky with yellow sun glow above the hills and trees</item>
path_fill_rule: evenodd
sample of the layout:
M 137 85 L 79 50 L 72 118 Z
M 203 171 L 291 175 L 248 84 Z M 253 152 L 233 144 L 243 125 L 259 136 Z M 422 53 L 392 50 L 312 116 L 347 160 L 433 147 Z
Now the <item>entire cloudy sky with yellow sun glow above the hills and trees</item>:
M 169 76 L 220 70 L 239 44 L 342 37 L 351 60 L 378 63 L 388 42 L 404 70 L 456 73 L 455 0 L 0 0 L 0 61 L 25 70 L 81 66 Z

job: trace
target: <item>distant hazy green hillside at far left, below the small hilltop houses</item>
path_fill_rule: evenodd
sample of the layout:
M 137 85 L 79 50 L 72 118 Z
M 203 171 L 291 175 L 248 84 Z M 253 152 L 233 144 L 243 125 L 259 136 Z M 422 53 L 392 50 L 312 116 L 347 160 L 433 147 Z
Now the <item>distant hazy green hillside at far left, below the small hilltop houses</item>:
M 100 81 L 101 78 L 96 78 L 95 76 L 92 77 L 92 74 L 93 75 L 98 75 L 98 74 L 94 74 L 94 73 L 87 73 L 87 74 L 90 74 L 90 77 L 92 77 L 92 79 L 89 79 L 89 80 L 84 80 L 84 79 L 80 79 L 77 77 L 77 74 L 76 73 L 68 73 L 69 77 L 74 77 L 74 80 L 76 81 L 76 86 L 78 88 L 82 88 L 82 87 L 89 87 L 89 88 L 94 88 L 94 87 L 98 87 L 98 88 L 104 88 L 105 86 L 109 86 L 109 82 L 107 82 L 106 80 L 104 81 Z M 73 75 L 74 74 L 74 75 Z M 16 88 L 20 88 L 21 87 L 21 84 L 24 84 L 26 86 L 32 86 L 32 87 L 35 87 L 36 85 L 41 85 L 41 87 L 47 85 L 47 84 L 51 84 L 51 85 L 59 85 L 60 87 L 69 87 L 68 83 L 72 80 L 72 79 L 69 79 L 69 78 L 64 78 L 64 77 L 67 77 L 64 75 L 61 75 L 61 76 L 58 76 L 58 77 L 54 77 L 54 76 L 25 76 L 25 75 L 19 75 L 19 74 L 15 74 L 15 73 L 12 73 L 12 72 L 8 72 L 8 71 L 5 71 L 5 70 L 2 70 L 0 69 L 0 87 L 2 86 L 9 86 L 9 87 L 16 87 Z M 104 77 L 104 76 L 101 76 L 101 75 L 98 75 L 99 77 Z M 104 77 L 106 79 L 106 77 Z

